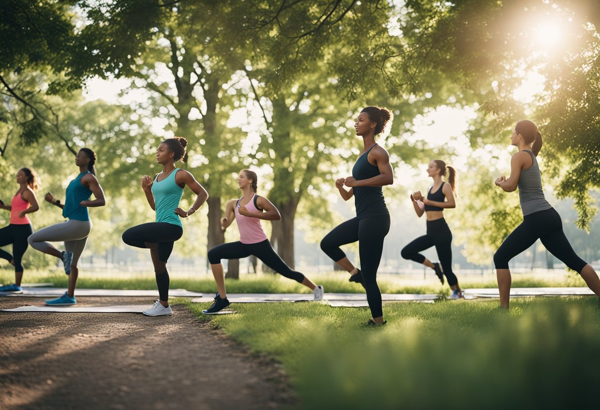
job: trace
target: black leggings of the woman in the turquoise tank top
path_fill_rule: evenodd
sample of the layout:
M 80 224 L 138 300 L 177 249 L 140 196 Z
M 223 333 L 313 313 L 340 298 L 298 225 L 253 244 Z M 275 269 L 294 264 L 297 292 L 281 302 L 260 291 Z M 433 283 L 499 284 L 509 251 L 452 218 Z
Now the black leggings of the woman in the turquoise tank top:
M 148 248 L 146 242 L 156 243 L 158 246 L 158 259 L 167 263 L 169 256 L 173 251 L 175 241 L 181 238 L 184 230 L 179 225 L 169 224 L 167 222 L 148 222 L 147 224 L 137 225 L 129 228 L 123 233 L 123 242 L 136 248 Z M 154 272 L 158 295 L 160 300 L 167 302 L 169 300 L 169 272 L 164 268 L 164 272 Z

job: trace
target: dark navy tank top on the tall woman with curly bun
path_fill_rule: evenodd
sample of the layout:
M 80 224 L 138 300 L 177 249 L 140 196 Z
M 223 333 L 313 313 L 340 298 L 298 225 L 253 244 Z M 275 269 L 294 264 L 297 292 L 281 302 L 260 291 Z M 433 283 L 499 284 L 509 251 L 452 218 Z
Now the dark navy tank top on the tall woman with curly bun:
M 356 160 L 356 164 L 354 164 L 354 167 L 352 168 L 352 176 L 354 179 L 369 179 L 381 174 L 379 172 L 379 167 L 371 165 L 367 159 L 367 156 L 373 147 L 370 147 L 367 152 L 362 154 L 358 160 Z M 352 189 L 354 191 L 356 218 L 389 216 L 388 207 L 385 206 L 385 198 L 383 198 L 381 186 L 354 186 Z

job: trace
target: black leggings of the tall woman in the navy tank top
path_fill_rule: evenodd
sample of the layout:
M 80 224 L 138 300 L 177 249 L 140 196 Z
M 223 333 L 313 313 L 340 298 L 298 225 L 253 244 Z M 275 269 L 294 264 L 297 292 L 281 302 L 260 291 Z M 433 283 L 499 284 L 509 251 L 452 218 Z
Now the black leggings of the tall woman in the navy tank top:
M 374 318 L 383 316 L 381 291 L 377 286 L 377 269 L 383 252 L 383 239 L 389 232 L 389 216 L 352 218 L 335 227 L 321 241 L 321 249 L 335 262 L 346 257 L 341 245 L 358 240 L 362 279 L 367 291 L 367 302 Z

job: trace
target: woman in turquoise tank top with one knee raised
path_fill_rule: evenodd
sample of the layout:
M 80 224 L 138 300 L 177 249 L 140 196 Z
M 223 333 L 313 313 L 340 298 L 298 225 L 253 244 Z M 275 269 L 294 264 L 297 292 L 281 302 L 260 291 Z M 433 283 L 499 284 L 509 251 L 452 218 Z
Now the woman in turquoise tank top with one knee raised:
M 154 275 L 160 297 L 154 305 L 143 312 L 146 316 L 166 316 L 173 312 L 169 306 L 169 272 L 167 260 L 173 251 L 175 241 L 184 233 L 181 218 L 196 212 L 208 198 L 206 189 L 188 171 L 175 167 L 181 159 L 187 161 L 185 149 L 187 140 L 181 137 L 169 138 L 158 146 L 156 161 L 163 165 L 163 171 L 154 180 L 148 175 L 142 177 L 142 189 L 150 207 L 156 211 L 155 222 L 137 225 L 123 233 L 123 242 L 136 248 L 150 249 Z M 196 201 L 187 211 L 179 207 L 185 186 L 197 195 Z

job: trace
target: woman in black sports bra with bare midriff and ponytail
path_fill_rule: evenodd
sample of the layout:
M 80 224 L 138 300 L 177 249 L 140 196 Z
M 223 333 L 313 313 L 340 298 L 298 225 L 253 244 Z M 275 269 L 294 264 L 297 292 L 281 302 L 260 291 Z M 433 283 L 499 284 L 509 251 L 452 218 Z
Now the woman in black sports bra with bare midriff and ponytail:
M 442 177 L 448 170 L 448 182 Z M 422 197 L 421 191 L 410 195 L 416 215 L 421 218 L 427 213 L 427 234 L 410 242 L 402 249 L 402 257 L 430 267 L 436 272 L 438 278 L 444 283 L 444 275 L 448 279 L 448 285 L 452 289 L 452 299 L 463 297 L 458 286 L 458 279 L 452 272 L 452 232 L 444 219 L 444 208 L 455 208 L 454 192 L 456 192 L 456 171 L 447 167 L 446 162 L 435 159 L 429 163 L 427 174 L 433 179 L 433 185 L 427 191 L 427 198 Z M 439 263 L 432 263 L 419 252 L 436 247 Z M 441 263 L 441 267 L 440 267 Z

